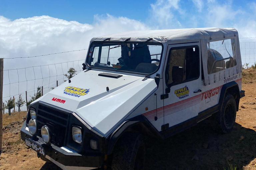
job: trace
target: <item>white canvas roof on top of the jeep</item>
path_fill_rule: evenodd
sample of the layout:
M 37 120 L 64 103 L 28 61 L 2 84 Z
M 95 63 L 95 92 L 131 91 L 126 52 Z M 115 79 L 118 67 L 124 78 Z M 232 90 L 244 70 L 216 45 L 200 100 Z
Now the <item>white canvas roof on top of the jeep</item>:
M 108 36 L 95 37 L 93 41 L 104 41 L 110 38 L 110 41 L 125 41 L 131 38 L 130 41 L 147 41 L 153 38 L 151 42 L 169 42 L 180 40 L 216 40 L 223 38 L 231 38 L 238 36 L 238 32 L 234 28 L 189 28 L 189 29 L 174 29 L 174 30 L 147 30 L 147 31 L 129 31 L 117 33 Z

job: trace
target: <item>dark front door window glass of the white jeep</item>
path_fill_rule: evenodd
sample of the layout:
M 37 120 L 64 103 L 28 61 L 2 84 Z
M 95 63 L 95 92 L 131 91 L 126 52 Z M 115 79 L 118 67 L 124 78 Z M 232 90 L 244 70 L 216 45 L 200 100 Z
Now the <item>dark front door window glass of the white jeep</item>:
M 199 48 L 198 46 L 171 48 L 165 72 L 166 83 L 171 84 L 172 67 L 184 68 L 183 81 L 192 80 L 199 77 Z

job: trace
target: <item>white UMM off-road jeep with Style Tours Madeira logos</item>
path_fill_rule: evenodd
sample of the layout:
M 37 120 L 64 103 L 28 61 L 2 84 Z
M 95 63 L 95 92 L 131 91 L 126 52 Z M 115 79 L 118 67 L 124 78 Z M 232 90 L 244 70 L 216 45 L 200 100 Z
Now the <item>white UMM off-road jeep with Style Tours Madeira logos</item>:
M 62 169 L 143 169 L 145 137 L 209 117 L 229 133 L 244 96 L 233 28 L 93 38 L 83 69 L 29 105 L 21 129 L 38 157 Z

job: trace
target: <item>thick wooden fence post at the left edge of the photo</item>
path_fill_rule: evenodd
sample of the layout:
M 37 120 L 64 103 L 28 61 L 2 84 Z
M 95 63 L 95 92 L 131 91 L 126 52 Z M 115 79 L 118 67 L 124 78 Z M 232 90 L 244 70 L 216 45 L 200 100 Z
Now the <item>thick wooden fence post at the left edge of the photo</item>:
M 4 72 L 4 59 L 0 58 L 0 155 L 2 153 L 3 141 L 3 73 Z

